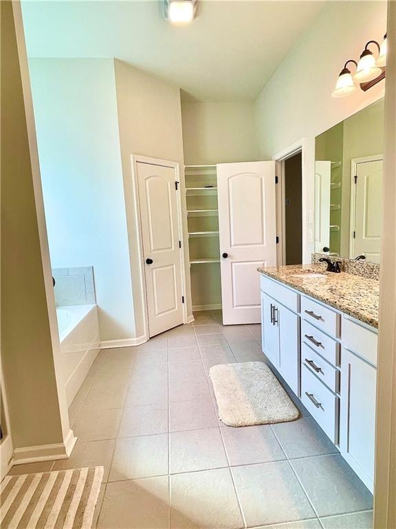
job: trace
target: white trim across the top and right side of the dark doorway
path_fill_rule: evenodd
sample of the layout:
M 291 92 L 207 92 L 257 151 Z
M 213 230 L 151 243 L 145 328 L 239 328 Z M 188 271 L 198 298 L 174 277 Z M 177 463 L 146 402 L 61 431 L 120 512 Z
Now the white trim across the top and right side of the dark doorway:
M 303 263 L 311 262 L 314 253 L 315 210 L 315 138 L 301 138 L 296 143 L 272 156 L 272 160 L 283 162 L 301 152 L 302 209 L 303 209 Z M 278 227 L 279 231 L 280 227 Z M 281 237 L 281 236 L 279 236 Z M 283 242 L 280 244 L 283 244 Z M 284 251 L 283 251 L 284 253 Z

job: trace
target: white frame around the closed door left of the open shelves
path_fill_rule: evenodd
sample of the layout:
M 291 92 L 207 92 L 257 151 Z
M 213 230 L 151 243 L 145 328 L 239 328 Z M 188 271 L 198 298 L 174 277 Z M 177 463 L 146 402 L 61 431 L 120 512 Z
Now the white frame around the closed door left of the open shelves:
M 140 214 L 140 196 L 139 186 L 137 180 L 137 163 L 146 163 L 148 165 L 159 165 L 160 167 L 170 167 L 175 169 L 176 181 L 180 183 L 180 167 L 178 162 L 171 160 L 162 160 L 162 158 L 151 158 L 150 156 L 141 156 L 140 154 L 132 154 L 132 186 L 133 199 L 135 201 L 135 227 L 137 232 L 137 253 L 139 255 L 139 273 L 140 273 L 140 294 L 142 295 L 143 307 L 143 325 L 144 338 L 150 340 L 150 333 L 148 329 L 148 307 L 147 307 L 147 292 L 146 292 L 146 271 L 143 264 L 143 236 L 142 236 L 142 218 Z M 187 300 L 186 300 L 186 268 L 184 263 L 184 236 L 183 236 L 183 217 L 181 209 L 181 186 L 179 185 L 179 193 L 176 195 L 177 203 L 177 227 L 179 229 L 179 240 L 181 240 L 180 249 L 180 267 L 181 267 L 181 294 L 184 295 L 183 304 L 183 323 L 187 323 Z

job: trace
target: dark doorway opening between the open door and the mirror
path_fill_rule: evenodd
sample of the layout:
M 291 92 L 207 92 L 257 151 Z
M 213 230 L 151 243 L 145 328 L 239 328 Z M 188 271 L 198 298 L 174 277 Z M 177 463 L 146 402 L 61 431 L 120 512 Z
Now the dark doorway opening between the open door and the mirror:
M 283 264 L 303 263 L 303 170 L 301 151 L 284 161 Z

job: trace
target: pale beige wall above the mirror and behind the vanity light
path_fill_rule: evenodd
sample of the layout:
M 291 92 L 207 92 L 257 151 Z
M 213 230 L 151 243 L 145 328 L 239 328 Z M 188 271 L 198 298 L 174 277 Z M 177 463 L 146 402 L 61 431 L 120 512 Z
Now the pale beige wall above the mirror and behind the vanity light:
M 384 94 L 382 82 L 369 92 L 331 97 L 344 62 L 385 31 L 386 2 L 327 2 L 257 98 L 261 158 L 318 136 Z

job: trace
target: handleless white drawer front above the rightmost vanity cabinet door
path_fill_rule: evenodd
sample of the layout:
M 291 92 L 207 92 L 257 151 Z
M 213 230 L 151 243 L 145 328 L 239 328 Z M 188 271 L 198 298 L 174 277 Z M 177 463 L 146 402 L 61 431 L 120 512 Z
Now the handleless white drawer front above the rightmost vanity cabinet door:
M 348 316 L 342 317 L 342 346 L 377 366 L 378 335 Z

